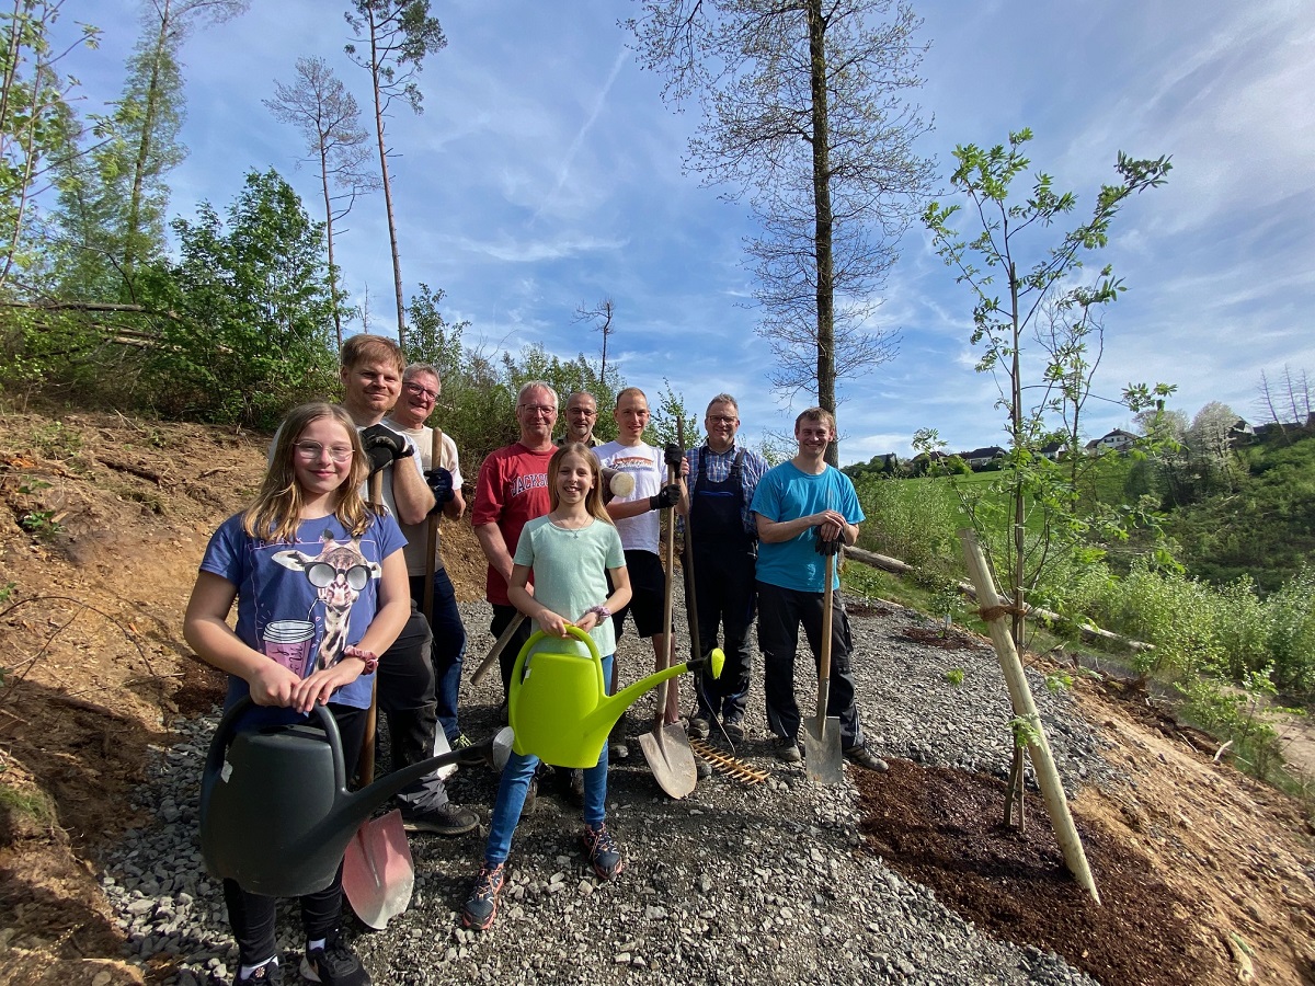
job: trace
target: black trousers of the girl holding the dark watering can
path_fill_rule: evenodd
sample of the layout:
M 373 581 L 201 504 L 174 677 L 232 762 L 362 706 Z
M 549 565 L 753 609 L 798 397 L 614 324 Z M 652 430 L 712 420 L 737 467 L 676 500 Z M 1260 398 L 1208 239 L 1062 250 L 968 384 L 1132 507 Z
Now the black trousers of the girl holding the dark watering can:
M 356 770 L 360 756 L 360 741 L 366 735 L 366 710 L 330 705 L 338 732 L 342 735 L 342 756 L 347 764 L 347 776 Z M 270 824 L 277 824 L 270 819 Z M 259 839 L 259 832 L 251 833 Z M 237 885 L 234 880 L 224 881 L 224 903 L 229 908 L 229 924 L 238 943 L 238 956 L 243 965 L 256 965 L 277 954 L 275 940 L 275 903 L 277 898 L 251 894 Z M 301 902 L 301 927 L 306 941 L 329 937 L 342 924 L 342 862 L 333 882 L 323 890 L 299 898 Z M 235 977 L 234 977 L 235 978 Z

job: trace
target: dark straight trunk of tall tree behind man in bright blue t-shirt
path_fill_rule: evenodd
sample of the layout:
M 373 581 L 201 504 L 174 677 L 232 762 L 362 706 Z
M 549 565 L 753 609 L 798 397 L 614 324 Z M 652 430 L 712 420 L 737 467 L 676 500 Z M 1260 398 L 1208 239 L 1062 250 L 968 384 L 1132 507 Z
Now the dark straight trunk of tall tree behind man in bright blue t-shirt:
M 809 55 L 813 87 L 813 216 L 817 258 L 818 406 L 835 414 L 835 258 L 831 252 L 831 163 L 826 89 L 826 20 L 822 0 L 809 0 Z M 831 465 L 840 463 L 839 442 L 826 450 Z

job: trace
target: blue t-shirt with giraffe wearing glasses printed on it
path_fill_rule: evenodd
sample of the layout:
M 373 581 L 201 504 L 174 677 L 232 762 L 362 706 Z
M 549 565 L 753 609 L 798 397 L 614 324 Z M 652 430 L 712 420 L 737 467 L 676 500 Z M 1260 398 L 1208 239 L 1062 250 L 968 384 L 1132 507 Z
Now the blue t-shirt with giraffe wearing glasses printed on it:
M 210 538 L 201 571 L 237 586 L 242 642 L 305 678 L 360 643 L 379 609 L 383 560 L 405 543 L 391 515 L 373 518 L 359 540 L 337 517 L 302 521 L 288 543 L 249 536 L 235 514 Z M 368 709 L 372 685 L 373 674 L 362 674 L 333 701 Z M 247 682 L 230 674 L 225 707 L 247 692 Z

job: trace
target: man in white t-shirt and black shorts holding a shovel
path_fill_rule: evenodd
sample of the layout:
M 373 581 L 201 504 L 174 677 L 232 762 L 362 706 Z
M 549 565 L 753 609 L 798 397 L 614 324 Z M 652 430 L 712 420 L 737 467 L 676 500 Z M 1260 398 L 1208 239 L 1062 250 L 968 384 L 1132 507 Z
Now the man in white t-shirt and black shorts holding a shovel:
M 644 429 L 648 427 L 648 398 L 638 387 L 627 387 L 617 394 L 617 408 L 611 413 L 617 422 L 617 440 L 601 444 L 593 451 L 604 468 L 625 472 L 634 477 L 635 488 L 623 497 L 613 497 L 608 513 L 621 534 L 621 546 L 626 552 L 626 568 L 630 572 L 631 599 L 615 614 L 617 635 L 625 630 L 626 617 L 635 621 L 635 632 L 652 639 L 654 655 L 661 663 L 667 647 L 663 603 L 667 592 L 667 577 L 658 556 L 661 534 L 659 510 L 680 507 L 684 510 L 684 472 L 688 465 L 681 460 L 681 475 L 671 481 L 663 452 L 644 442 Z M 667 722 L 680 719 L 680 694 L 677 689 L 668 690 Z M 619 749 L 613 751 L 619 753 Z M 627 751 L 629 752 L 629 751 Z

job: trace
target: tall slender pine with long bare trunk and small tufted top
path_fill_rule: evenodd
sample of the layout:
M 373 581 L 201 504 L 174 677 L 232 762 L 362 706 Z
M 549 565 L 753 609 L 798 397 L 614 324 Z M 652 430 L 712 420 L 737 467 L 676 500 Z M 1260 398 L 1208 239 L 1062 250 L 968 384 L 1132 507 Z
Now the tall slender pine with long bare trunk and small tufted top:
M 402 300 L 402 263 L 397 250 L 397 220 L 393 185 L 388 172 L 385 121 L 394 100 L 413 113 L 423 112 L 423 93 L 416 82 L 425 57 L 447 46 L 443 28 L 429 13 L 429 0 L 351 0 L 347 24 L 363 43 L 348 43 L 347 57 L 370 72 L 375 100 L 375 134 L 379 138 L 379 174 L 388 213 L 388 242 L 393 255 L 393 291 L 397 297 L 397 342 L 406 346 L 406 305 Z

